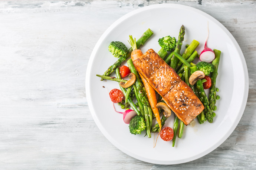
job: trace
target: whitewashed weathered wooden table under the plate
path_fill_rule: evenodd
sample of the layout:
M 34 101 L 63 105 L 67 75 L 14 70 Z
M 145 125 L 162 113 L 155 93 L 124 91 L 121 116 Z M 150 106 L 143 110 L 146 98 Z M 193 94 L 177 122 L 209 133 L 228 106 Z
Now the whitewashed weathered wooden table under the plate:
M 242 48 L 249 98 L 239 125 L 216 150 L 163 166 L 122 153 L 89 111 L 85 72 L 115 20 L 137 8 L 178 3 L 219 20 Z M 0 169 L 256 169 L 256 1 L 0 1 Z

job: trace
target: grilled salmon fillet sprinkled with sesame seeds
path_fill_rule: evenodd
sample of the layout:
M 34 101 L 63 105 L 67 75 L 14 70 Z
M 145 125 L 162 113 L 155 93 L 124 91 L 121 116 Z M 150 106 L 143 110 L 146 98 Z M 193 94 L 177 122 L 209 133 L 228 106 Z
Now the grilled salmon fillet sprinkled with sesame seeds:
M 150 49 L 132 61 L 137 71 L 185 125 L 203 111 L 204 106 L 193 90 L 154 50 Z

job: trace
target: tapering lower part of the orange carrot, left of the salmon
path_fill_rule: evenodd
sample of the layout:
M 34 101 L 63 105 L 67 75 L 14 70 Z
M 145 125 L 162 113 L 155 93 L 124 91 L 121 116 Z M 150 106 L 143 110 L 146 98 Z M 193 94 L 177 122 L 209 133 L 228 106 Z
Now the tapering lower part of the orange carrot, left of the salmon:
M 160 119 L 160 115 L 159 115 L 159 111 L 158 111 L 158 108 L 157 108 L 157 97 L 155 96 L 155 89 L 152 88 L 152 86 L 147 82 L 147 80 L 140 74 L 141 76 L 141 79 L 142 79 L 142 82 L 145 86 L 145 89 L 146 89 L 146 92 L 147 92 L 147 96 L 148 96 L 148 101 L 150 103 L 150 106 L 153 110 L 153 113 L 155 115 L 155 119 L 157 120 L 157 123 L 159 125 L 159 133 L 158 133 L 158 136 L 161 132 L 161 128 L 162 128 L 162 125 L 161 125 L 161 119 Z M 158 137 L 157 136 L 157 137 Z M 157 140 L 155 141 L 155 145 L 157 145 Z M 154 145 L 154 147 L 155 147 Z

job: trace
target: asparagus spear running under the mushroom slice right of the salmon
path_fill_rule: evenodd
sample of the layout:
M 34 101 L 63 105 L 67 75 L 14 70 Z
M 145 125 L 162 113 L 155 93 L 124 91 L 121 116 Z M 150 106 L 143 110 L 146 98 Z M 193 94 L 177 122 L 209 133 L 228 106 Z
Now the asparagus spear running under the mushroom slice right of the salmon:
M 198 69 L 196 66 L 190 67 L 191 74 L 193 74 L 193 72 L 197 70 Z M 206 119 L 208 120 L 208 122 L 212 123 L 213 122 L 212 111 L 210 109 L 209 100 L 206 96 L 206 93 L 204 92 L 204 87 L 200 79 L 196 82 L 196 88 L 198 90 L 199 99 L 204 105 L 204 113 L 205 113 Z

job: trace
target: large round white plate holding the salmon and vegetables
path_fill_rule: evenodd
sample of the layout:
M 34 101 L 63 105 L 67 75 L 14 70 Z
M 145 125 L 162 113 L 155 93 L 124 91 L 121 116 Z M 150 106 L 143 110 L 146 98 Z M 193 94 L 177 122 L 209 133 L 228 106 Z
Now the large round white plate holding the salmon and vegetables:
M 154 35 L 141 50 L 146 52 L 152 48 L 157 52 L 160 50 L 158 39 L 166 35 L 177 38 L 183 24 L 186 34 L 181 52 L 193 39 L 200 42 L 197 51 L 201 52 L 207 35 L 207 21 L 210 29 L 208 47 L 221 51 L 217 78 L 217 87 L 220 89 L 217 95 L 220 95 L 221 99 L 216 103 L 217 116 L 213 123 L 205 122 L 202 125 L 194 120 L 194 123 L 185 127 L 182 139 L 176 139 L 175 147 L 171 147 L 172 142 L 165 142 L 159 137 L 157 146 L 153 148 L 153 133 L 151 138 L 144 137 L 144 134 L 131 135 L 128 125 L 122 120 L 122 114 L 114 112 L 108 93 L 113 88 L 119 88 L 118 83 L 100 81 L 100 78 L 96 77 L 96 74 L 103 74 L 116 61 L 108 51 L 108 45 L 111 41 L 121 41 L 129 47 L 128 35 L 131 34 L 138 39 L 150 28 Z M 243 115 L 248 96 L 248 82 L 243 53 L 234 37 L 219 21 L 192 7 L 158 4 L 126 14 L 101 36 L 89 59 L 86 95 L 97 126 L 122 152 L 145 162 L 179 164 L 210 153 L 229 137 Z M 117 106 L 116 108 L 121 110 Z M 165 126 L 173 127 L 173 117 L 167 120 Z

